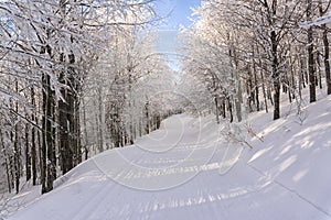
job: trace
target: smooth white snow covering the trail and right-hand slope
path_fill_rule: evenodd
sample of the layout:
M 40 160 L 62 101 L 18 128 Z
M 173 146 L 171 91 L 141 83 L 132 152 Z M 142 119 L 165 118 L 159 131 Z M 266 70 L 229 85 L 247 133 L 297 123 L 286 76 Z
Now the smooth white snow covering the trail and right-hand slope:
M 136 145 L 81 164 L 9 219 L 331 219 L 331 97 L 270 119 L 249 116 L 249 148 L 222 138 L 227 128 L 212 117 L 171 117 Z

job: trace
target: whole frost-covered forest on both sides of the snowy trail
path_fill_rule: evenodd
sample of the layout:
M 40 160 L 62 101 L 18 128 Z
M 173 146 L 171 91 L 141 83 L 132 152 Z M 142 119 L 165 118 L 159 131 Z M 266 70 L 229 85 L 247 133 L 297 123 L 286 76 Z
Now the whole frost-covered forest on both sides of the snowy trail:
M 51 191 L 81 162 L 182 111 L 235 123 L 271 109 L 278 120 L 286 95 L 305 117 L 317 89 L 331 94 L 330 25 L 301 24 L 330 4 L 202 1 L 180 33 L 177 73 L 154 45 L 153 0 L 0 1 L 0 190 Z

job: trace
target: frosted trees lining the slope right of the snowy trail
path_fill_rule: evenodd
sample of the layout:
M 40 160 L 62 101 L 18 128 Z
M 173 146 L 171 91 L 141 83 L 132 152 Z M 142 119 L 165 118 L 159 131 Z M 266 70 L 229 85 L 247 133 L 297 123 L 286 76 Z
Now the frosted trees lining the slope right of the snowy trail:
M 270 106 L 274 119 L 279 119 L 281 94 L 297 103 L 298 112 L 305 88 L 309 89 L 310 102 L 317 100 L 317 88 L 330 95 L 330 26 L 300 25 L 325 15 L 330 3 L 202 1 L 195 10 L 199 19 L 194 26 L 183 32 L 188 40 L 185 81 L 200 92 L 185 92 L 212 108 L 217 121 L 226 118 L 231 122 L 242 121 L 247 112 L 268 112 Z M 196 95 L 201 92 L 204 97 Z

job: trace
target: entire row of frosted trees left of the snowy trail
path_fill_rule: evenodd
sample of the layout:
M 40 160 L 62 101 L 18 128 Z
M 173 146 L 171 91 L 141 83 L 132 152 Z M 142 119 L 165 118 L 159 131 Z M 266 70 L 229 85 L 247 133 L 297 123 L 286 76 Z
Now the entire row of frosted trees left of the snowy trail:
M 0 190 L 31 182 L 47 193 L 92 153 L 134 143 L 167 117 L 152 100 L 172 82 L 148 37 L 150 2 L 0 2 Z

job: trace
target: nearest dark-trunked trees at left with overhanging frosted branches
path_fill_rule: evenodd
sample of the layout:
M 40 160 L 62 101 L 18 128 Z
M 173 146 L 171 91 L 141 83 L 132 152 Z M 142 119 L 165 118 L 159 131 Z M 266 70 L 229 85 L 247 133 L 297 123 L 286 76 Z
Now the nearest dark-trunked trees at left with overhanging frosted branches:
M 115 32 L 152 14 L 148 0 L 0 2 L 1 147 L 10 188 L 15 182 L 19 191 L 22 170 L 28 177 L 32 168 L 33 184 L 46 193 L 57 168 L 66 173 L 81 162 L 86 78 Z

